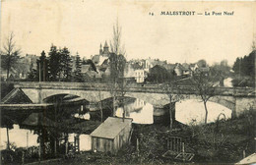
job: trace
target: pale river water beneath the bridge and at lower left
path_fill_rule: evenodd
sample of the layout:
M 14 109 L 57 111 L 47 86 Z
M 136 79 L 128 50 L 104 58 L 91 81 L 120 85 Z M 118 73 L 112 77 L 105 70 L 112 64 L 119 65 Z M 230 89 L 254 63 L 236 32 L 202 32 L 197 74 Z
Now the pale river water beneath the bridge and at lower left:
M 224 106 L 214 103 L 207 103 L 209 115 L 208 123 L 215 122 L 220 114 L 224 114 L 225 118 L 228 119 L 231 117 L 231 110 L 225 108 Z M 155 109 L 153 105 L 147 103 L 141 99 L 134 99 L 132 102 L 129 101 L 124 106 L 125 116 L 133 119 L 133 123 L 136 124 L 154 124 L 154 123 L 164 123 L 168 120 L 167 109 Z M 116 116 L 123 116 L 123 108 L 118 108 L 115 113 Z M 224 117 L 222 116 L 222 117 Z M 76 115 L 75 115 L 76 117 Z M 84 116 L 85 119 L 90 119 L 90 114 Z M 203 102 L 200 100 L 189 99 L 183 100 L 176 103 L 176 120 L 185 125 L 190 125 L 193 121 L 196 124 L 202 124 L 205 120 L 205 109 Z M 1 128 L 1 148 L 3 149 L 6 146 L 6 129 Z M 18 125 L 14 126 L 14 129 L 9 131 L 9 137 L 11 142 L 15 142 L 17 146 L 32 146 L 38 145 L 37 136 L 33 135 L 32 131 L 20 129 Z M 83 136 L 84 144 L 81 150 L 88 150 L 91 148 L 90 137 Z M 71 135 L 71 140 L 72 138 Z M 85 144 L 87 143 L 87 144 Z

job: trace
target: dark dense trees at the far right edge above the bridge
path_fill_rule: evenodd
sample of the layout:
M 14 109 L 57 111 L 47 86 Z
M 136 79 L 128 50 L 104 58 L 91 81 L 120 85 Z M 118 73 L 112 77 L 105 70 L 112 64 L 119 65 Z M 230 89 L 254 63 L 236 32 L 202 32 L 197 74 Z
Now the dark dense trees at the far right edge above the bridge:
M 253 50 L 248 56 L 237 58 L 234 62 L 234 86 L 255 86 L 255 54 L 256 50 Z

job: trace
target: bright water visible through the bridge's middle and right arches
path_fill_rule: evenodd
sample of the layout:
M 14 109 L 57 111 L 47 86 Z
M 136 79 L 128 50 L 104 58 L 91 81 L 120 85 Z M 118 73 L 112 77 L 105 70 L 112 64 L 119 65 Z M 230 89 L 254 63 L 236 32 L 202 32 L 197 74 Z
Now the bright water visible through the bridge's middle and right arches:
M 224 107 L 221 104 L 208 101 L 208 123 L 215 122 L 218 116 L 221 115 L 221 119 L 231 118 L 231 110 Z M 175 105 L 176 121 L 185 125 L 191 124 L 193 121 L 195 124 L 202 124 L 205 122 L 205 108 L 204 104 L 200 100 L 190 99 L 177 102 Z M 136 124 L 168 124 L 169 115 L 168 108 L 156 109 L 152 104 L 145 102 L 141 99 L 134 99 L 124 105 L 125 117 L 132 118 L 133 123 Z M 123 108 L 118 107 L 115 115 L 117 117 L 123 116 Z

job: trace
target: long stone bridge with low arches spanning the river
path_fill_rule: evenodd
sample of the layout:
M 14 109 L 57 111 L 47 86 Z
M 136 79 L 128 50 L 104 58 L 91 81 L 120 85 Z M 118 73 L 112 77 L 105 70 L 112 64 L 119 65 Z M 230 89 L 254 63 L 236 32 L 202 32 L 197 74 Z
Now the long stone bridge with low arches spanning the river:
M 139 98 L 156 108 L 162 108 L 170 103 L 166 91 L 162 88 L 160 85 L 133 84 L 125 87 L 125 96 Z M 24 92 L 34 104 L 43 103 L 46 98 L 59 94 L 77 95 L 91 103 L 112 97 L 111 85 L 107 83 L 16 83 L 13 93 L 3 98 L 2 103 L 13 97 L 15 90 Z M 182 86 L 181 91 L 182 99 L 200 99 L 191 86 Z M 172 94 L 177 94 L 177 91 Z M 256 109 L 254 88 L 218 87 L 210 101 L 224 105 L 232 110 L 233 115 L 240 114 L 250 107 Z

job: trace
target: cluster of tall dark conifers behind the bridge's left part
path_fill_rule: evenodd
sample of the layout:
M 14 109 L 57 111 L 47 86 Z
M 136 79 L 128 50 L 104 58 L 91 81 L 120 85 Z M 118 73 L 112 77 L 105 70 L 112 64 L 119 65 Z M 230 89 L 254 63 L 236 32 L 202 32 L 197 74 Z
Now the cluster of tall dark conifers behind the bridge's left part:
M 30 81 L 39 82 L 81 82 L 81 65 L 82 60 L 77 53 L 75 58 L 75 70 L 72 73 L 72 58 L 67 47 L 57 49 L 51 45 L 48 57 L 44 51 L 41 52 L 40 58 L 36 61 L 36 70 L 32 69 L 29 74 Z

